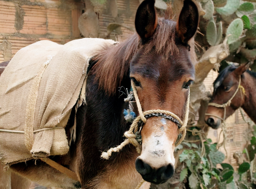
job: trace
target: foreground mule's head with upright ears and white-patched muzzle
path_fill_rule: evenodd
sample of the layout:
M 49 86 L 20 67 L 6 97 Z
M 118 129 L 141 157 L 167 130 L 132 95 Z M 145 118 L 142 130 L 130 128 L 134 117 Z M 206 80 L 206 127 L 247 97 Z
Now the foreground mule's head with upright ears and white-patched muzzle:
M 194 64 L 188 41 L 198 26 L 196 5 L 185 0 L 178 22 L 157 18 L 154 0 L 145 0 L 137 10 L 138 51 L 130 64 L 143 111 L 163 109 L 184 120 L 189 86 L 194 80 Z M 142 152 L 135 166 L 148 182 L 164 183 L 173 176 L 173 155 L 179 129 L 163 117 L 147 119 L 143 129 Z

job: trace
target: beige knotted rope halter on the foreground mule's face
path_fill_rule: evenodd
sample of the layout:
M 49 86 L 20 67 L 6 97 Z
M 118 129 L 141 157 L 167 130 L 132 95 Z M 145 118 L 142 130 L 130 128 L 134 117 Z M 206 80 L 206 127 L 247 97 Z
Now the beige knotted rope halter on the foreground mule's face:
M 179 137 L 177 139 L 177 141 L 175 142 L 175 146 L 178 146 L 184 140 L 184 138 L 186 136 L 186 127 L 187 127 L 187 122 L 188 122 L 188 118 L 189 118 L 189 97 L 187 99 L 187 104 L 186 104 L 187 107 L 186 107 L 185 119 L 184 119 L 184 121 L 181 121 L 181 119 L 176 114 L 174 114 L 170 111 L 167 111 L 167 110 L 155 109 L 155 110 L 148 110 L 148 111 L 143 112 L 133 80 L 131 80 L 131 87 L 133 89 L 133 95 L 135 97 L 135 101 L 136 101 L 137 108 L 139 111 L 139 116 L 133 120 L 133 123 L 131 124 L 129 131 L 125 132 L 124 135 L 127 138 L 127 139 L 125 139 L 125 141 L 123 141 L 119 146 L 117 146 L 115 148 L 110 148 L 109 150 L 107 150 L 107 152 L 102 152 L 101 158 L 104 158 L 106 160 L 109 159 L 112 152 L 119 152 L 125 145 L 127 145 L 129 143 L 133 144 L 133 146 L 135 146 L 137 152 L 139 154 L 141 154 L 141 143 L 139 143 L 136 140 L 136 138 L 137 138 L 136 132 L 139 129 L 138 123 L 141 123 L 141 121 L 143 123 L 146 123 L 147 119 L 149 119 L 150 117 L 154 117 L 154 116 L 164 117 L 168 120 L 173 121 L 173 123 L 175 123 L 179 127 L 179 131 L 180 131 L 179 136 L 181 134 L 181 137 Z M 140 130 L 141 130 L 141 128 L 140 128 Z

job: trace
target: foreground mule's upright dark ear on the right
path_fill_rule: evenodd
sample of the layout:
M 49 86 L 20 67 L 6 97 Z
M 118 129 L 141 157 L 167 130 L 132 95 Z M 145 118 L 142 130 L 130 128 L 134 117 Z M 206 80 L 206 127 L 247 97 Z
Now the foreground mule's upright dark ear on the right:
M 196 4 L 191 0 L 185 0 L 179 20 L 177 21 L 176 31 L 183 43 L 188 43 L 196 33 L 199 14 Z

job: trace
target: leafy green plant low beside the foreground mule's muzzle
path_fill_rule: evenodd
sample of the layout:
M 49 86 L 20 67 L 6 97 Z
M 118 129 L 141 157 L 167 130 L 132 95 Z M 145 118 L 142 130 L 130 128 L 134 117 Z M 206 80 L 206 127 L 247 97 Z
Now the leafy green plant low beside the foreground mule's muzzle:
M 179 160 L 185 163 L 186 168 L 181 171 L 180 180 L 188 178 L 191 189 L 198 189 L 198 187 L 207 189 L 216 183 L 232 182 L 234 173 L 232 166 L 221 164 L 223 170 L 216 168 L 216 164 L 222 163 L 225 156 L 216 149 L 216 144 L 211 144 L 211 140 L 204 142 L 206 149 L 204 156 L 201 156 L 201 146 L 195 146 L 194 143 L 188 145 L 187 142 L 183 142 L 182 145 L 184 148 Z

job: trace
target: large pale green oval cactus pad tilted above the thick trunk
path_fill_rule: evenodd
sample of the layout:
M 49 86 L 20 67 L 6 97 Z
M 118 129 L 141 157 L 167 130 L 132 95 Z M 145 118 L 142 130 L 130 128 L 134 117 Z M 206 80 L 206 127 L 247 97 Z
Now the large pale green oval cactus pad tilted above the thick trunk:
M 244 24 L 240 18 L 233 20 L 226 31 L 226 36 L 230 35 L 228 36 L 227 43 L 231 44 L 238 41 L 239 37 L 242 35 L 243 28 Z

